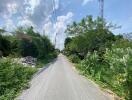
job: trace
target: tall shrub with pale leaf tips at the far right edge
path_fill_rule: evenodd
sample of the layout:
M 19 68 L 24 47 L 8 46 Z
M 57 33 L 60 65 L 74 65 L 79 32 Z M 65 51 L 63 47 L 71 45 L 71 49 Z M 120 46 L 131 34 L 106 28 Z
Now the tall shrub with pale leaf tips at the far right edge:
M 132 76 L 130 76 L 130 73 L 132 71 L 132 49 L 116 48 L 107 50 L 104 58 L 109 64 L 109 73 L 111 72 L 113 76 L 111 86 L 119 95 L 131 100 L 132 87 L 130 84 L 132 84 Z

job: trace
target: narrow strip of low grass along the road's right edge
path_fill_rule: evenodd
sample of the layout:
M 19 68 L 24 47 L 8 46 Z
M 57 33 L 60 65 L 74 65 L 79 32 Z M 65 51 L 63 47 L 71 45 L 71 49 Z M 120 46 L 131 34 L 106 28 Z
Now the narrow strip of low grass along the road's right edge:
M 87 79 L 90 79 L 91 81 L 95 82 L 102 91 L 107 92 L 108 94 L 112 95 L 113 98 L 116 98 L 117 100 L 125 100 L 122 96 L 124 94 L 124 90 L 121 88 L 112 87 L 111 85 L 102 82 L 98 80 L 96 77 L 91 76 L 90 74 L 86 74 L 84 70 L 80 69 L 80 61 L 78 63 L 73 62 L 73 59 L 71 57 L 68 57 L 69 61 L 74 64 L 75 68 L 79 71 L 79 74 L 82 76 L 85 76 Z M 115 100 L 116 100 L 115 99 Z

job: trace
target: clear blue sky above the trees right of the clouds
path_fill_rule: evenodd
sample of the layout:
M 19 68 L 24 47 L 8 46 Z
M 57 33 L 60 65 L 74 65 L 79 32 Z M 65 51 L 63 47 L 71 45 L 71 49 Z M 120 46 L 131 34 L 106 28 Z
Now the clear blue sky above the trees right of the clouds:
M 88 1 L 85 5 L 82 5 L 83 0 L 61 0 L 61 5 L 63 11 L 59 10 L 59 14 L 64 14 L 66 12 L 73 12 L 74 20 L 81 20 L 86 15 L 93 15 L 97 17 L 99 15 L 99 3 L 98 0 L 85 0 Z M 121 25 L 121 29 L 117 29 L 114 32 L 116 34 L 123 32 L 132 31 L 132 0 L 104 0 L 104 16 L 105 19 L 114 24 Z M 60 8 L 61 9 L 61 8 Z M 58 14 L 58 15 L 59 15 Z

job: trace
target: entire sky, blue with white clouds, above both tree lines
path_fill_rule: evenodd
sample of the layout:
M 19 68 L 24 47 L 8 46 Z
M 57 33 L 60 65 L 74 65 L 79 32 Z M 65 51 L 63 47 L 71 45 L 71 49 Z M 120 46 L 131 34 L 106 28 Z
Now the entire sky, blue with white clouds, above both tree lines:
M 122 26 L 113 32 L 132 32 L 132 0 L 104 1 L 105 19 Z M 52 0 L 0 0 L 0 27 L 13 31 L 19 26 L 32 25 L 36 31 L 48 35 L 52 42 L 58 33 L 58 48 L 63 48 L 66 25 L 87 15 L 99 16 L 98 0 L 55 0 L 54 8 Z

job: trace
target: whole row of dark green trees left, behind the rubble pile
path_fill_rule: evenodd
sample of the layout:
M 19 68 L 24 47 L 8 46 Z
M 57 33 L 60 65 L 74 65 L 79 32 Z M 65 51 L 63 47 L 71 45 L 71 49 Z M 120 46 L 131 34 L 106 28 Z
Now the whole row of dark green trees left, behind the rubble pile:
M 33 27 L 18 28 L 11 36 L 0 35 L 0 51 L 3 56 L 33 56 L 45 58 L 54 53 L 54 46 L 47 36 L 35 32 Z

